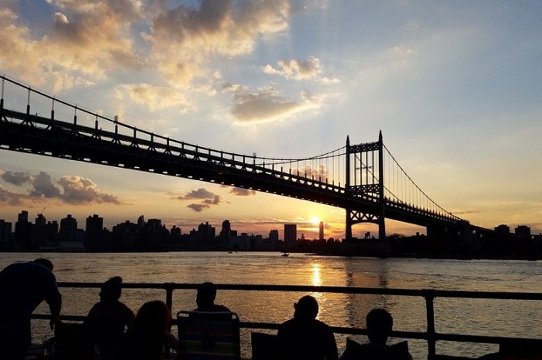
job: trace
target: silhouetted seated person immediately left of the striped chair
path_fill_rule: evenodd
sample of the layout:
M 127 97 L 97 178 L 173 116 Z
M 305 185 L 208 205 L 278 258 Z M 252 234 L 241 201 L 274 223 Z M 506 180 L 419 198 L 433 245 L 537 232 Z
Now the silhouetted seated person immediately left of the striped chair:
M 162 360 L 164 346 L 178 349 L 178 342 L 169 332 L 171 312 L 162 301 L 143 304 L 132 326 L 122 338 L 117 359 Z

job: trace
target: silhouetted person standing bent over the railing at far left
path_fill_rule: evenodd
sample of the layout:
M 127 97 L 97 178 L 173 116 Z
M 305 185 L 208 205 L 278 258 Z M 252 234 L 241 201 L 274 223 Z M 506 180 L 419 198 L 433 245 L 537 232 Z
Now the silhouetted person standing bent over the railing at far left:
M 49 304 L 52 330 L 59 319 L 62 296 L 49 260 L 15 263 L 0 271 L 2 358 L 24 359 L 31 343 L 30 315 L 42 301 Z

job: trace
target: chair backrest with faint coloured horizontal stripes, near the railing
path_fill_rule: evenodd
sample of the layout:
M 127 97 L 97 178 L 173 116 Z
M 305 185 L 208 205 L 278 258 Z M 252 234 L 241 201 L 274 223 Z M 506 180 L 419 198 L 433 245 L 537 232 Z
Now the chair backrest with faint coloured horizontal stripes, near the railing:
M 179 311 L 180 358 L 241 359 L 239 317 L 234 312 Z

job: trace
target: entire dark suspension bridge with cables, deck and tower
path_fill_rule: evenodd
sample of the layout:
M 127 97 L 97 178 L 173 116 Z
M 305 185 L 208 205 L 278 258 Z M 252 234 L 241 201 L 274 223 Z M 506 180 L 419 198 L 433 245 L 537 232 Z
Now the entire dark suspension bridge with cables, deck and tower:
M 467 221 L 438 205 L 383 142 L 346 144 L 306 158 L 236 154 L 189 144 L 122 123 L 2 76 L 0 149 L 237 186 L 345 209 L 352 225 L 385 219 L 457 238 Z

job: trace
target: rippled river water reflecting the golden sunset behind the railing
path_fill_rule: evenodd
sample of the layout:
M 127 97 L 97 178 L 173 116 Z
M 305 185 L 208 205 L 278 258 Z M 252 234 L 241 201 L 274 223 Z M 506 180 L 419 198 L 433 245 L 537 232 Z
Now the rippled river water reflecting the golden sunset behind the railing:
M 306 256 L 276 252 L 167 253 L 3 253 L 0 269 L 12 262 L 47 257 L 57 281 L 103 282 L 122 276 L 125 282 L 176 282 L 276 285 L 365 286 L 390 289 L 441 289 L 542 292 L 542 262 Z M 99 289 L 61 289 L 62 313 L 86 315 L 99 300 Z M 237 312 L 242 321 L 281 323 L 293 315 L 296 292 L 220 291 L 217 303 Z M 320 305 L 318 318 L 331 326 L 365 327 L 372 308 L 391 312 L 394 330 L 425 331 L 423 298 L 382 295 L 311 294 Z M 125 289 L 121 301 L 137 312 L 144 302 L 165 301 L 163 290 Z M 173 311 L 195 308 L 194 290 L 173 292 Z M 36 312 L 47 312 L 42 304 Z M 492 299 L 435 299 L 436 331 L 472 335 L 542 338 L 542 302 Z M 52 336 L 47 321 L 33 321 L 34 342 Z M 250 354 L 250 331 L 242 330 L 243 357 Z M 364 342 L 363 336 L 351 336 Z M 346 336 L 336 335 L 344 348 Z M 391 339 L 392 342 L 399 339 Z M 427 343 L 409 340 L 415 359 L 427 358 Z M 495 345 L 437 342 L 437 354 L 480 356 Z

